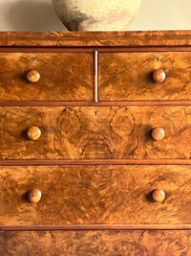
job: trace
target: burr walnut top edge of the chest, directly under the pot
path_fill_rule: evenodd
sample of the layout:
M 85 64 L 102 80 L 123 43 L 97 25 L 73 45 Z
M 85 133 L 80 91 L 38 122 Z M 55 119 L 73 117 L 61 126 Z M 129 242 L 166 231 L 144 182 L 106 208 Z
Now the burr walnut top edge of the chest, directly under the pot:
M 191 31 L 0 32 L 0 46 L 190 46 Z

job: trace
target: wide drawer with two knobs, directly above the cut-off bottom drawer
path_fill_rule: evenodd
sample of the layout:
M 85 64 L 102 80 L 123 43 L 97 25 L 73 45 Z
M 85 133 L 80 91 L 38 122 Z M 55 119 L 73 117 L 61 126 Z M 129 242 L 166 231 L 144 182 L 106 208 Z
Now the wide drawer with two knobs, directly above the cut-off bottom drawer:
M 1 225 L 187 224 L 191 166 L 0 167 Z

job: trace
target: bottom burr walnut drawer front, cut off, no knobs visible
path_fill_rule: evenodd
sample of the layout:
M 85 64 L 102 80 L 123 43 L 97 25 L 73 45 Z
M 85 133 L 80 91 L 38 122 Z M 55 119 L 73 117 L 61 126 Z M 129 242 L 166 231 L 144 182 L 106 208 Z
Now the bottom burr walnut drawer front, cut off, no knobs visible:
M 190 240 L 190 230 L 0 232 L 0 251 L 4 256 L 188 256 Z

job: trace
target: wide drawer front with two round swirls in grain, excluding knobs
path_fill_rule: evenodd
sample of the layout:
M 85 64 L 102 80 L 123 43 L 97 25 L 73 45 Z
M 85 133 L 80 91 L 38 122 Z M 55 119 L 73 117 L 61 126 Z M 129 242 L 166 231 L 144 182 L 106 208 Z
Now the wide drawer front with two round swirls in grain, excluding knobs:
M 8 106 L 0 119 L 0 159 L 191 157 L 191 106 Z M 31 127 L 41 129 L 38 140 L 28 139 Z

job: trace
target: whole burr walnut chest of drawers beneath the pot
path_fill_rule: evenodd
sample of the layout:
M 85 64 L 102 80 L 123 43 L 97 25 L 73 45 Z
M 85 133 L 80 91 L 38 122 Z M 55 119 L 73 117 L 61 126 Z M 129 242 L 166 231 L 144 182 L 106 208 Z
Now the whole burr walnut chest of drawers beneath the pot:
M 190 255 L 191 33 L 0 33 L 1 255 Z

